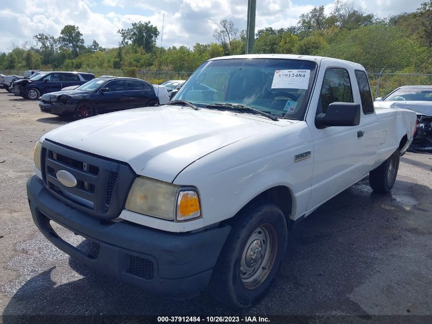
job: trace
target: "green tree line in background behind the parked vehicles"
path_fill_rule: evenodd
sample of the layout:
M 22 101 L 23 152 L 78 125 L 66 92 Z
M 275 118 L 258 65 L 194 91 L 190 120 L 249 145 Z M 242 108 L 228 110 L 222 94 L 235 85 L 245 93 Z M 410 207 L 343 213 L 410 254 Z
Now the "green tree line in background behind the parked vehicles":
M 82 33 L 67 25 L 59 37 L 37 34 L 33 42 L 0 54 L 0 70 L 122 71 L 136 76 L 140 70 L 194 71 L 217 56 L 244 54 L 245 31 L 223 19 L 214 31 L 216 42 L 159 48 L 159 31 L 150 21 L 132 23 L 118 31 L 118 48 L 102 48 L 96 40 L 86 46 Z M 326 15 L 324 6 L 300 15 L 297 26 L 256 33 L 255 53 L 320 55 L 355 61 L 367 69 L 432 73 L 432 0 L 416 12 L 378 18 L 354 2 L 336 1 Z

